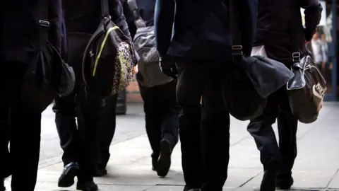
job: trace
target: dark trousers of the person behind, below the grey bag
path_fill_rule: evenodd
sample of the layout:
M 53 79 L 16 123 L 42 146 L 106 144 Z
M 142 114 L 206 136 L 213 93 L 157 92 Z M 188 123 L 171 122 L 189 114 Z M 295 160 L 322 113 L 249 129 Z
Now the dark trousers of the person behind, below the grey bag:
M 175 96 L 177 81 L 154 87 L 139 84 L 152 158 L 160 156 L 160 141 L 167 139 L 172 149 L 178 142 L 180 107 Z

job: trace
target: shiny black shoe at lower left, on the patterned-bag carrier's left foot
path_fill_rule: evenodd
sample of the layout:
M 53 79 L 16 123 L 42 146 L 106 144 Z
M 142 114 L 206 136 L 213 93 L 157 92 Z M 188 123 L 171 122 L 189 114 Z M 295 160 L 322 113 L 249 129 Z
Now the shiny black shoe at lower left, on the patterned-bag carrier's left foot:
M 71 187 L 74 184 L 74 178 L 78 175 L 78 163 L 69 163 L 64 167 L 58 180 L 59 187 Z

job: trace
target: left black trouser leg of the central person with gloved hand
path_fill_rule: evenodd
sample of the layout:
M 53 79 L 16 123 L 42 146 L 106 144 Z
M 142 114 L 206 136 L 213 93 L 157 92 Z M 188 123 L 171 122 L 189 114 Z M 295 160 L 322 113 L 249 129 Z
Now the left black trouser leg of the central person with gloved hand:
M 177 62 L 177 101 L 182 108 L 179 138 L 186 188 L 200 188 L 202 185 L 200 102 L 204 85 L 203 68 L 202 64 Z

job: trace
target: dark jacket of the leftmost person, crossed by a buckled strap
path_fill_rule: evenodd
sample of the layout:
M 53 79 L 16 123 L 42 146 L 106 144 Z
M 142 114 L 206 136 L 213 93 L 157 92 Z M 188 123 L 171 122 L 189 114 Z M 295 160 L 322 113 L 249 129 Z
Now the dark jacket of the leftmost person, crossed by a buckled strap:
M 61 50 L 61 0 L 48 1 L 49 41 Z M 40 50 L 39 0 L 1 4 L 1 50 L 4 59 L 30 64 Z

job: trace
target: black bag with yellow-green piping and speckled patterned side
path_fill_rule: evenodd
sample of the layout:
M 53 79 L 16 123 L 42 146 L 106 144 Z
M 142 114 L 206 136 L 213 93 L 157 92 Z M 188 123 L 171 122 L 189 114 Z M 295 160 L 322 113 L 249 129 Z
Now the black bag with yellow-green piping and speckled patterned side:
M 111 21 L 108 0 L 101 0 L 102 21 L 83 52 L 85 93 L 98 99 L 114 96 L 133 79 L 136 54 L 132 40 Z

